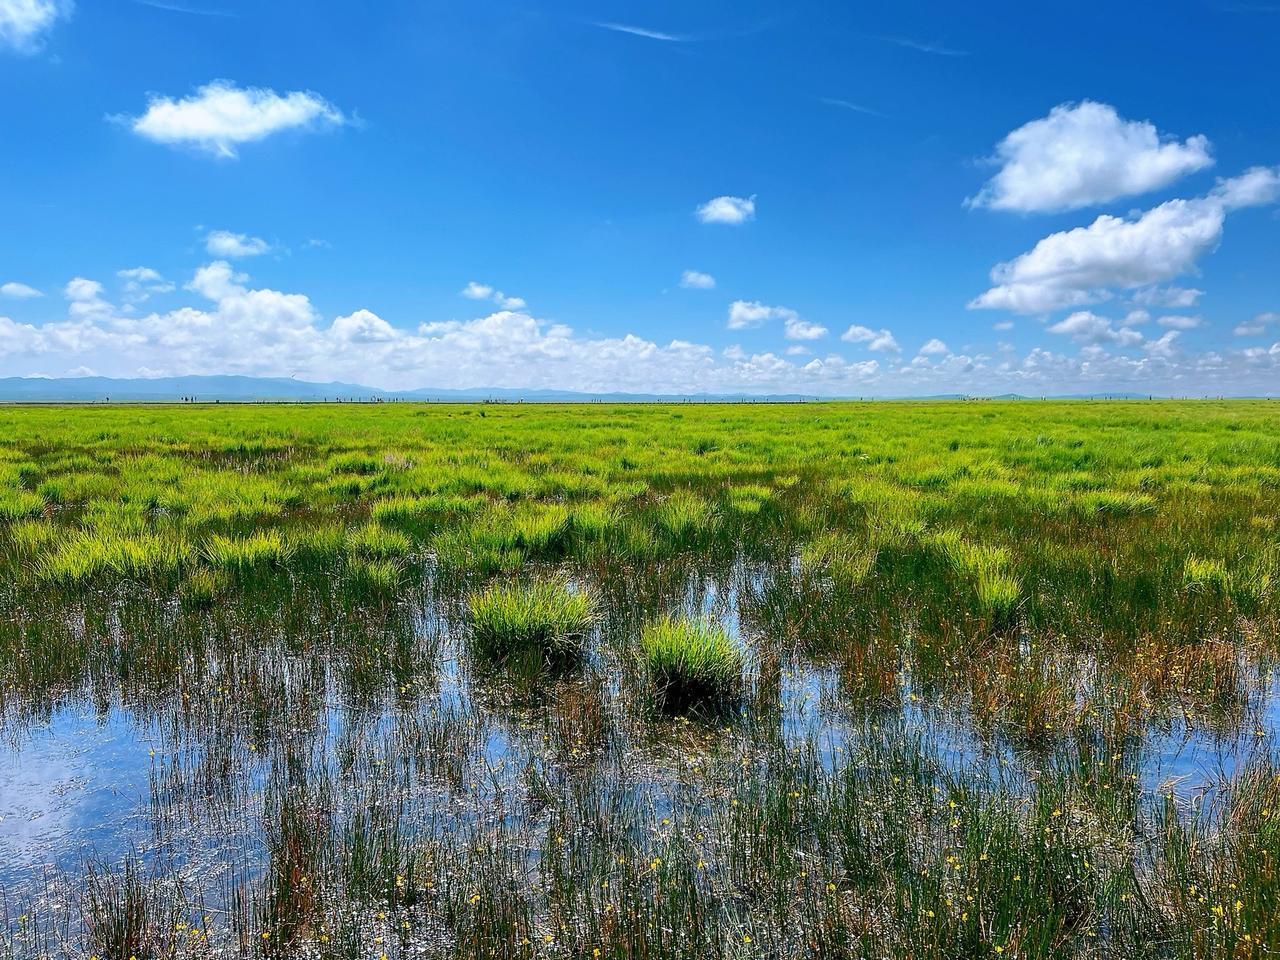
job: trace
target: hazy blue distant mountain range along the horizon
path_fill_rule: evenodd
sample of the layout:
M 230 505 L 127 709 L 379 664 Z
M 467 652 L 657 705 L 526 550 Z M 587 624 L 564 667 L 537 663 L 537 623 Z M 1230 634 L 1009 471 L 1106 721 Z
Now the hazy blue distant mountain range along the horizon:
M 1147 399 L 1146 393 L 1076 393 L 1060 394 L 1055 399 Z M 502 401 L 515 403 L 654 403 L 694 401 L 709 402 L 773 402 L 796 403 L 819 399 L 852 399 L 852 397 L 817 397 L 813 394 L 746 394 L 746 393 L 588 393 L 580 390 L 534 390 L 518 388 L 475 388 L 447 390 L 422 387 L 413 390 L 383 390 L 351 383 L 311 383 L 283 378 L 259 376 L 157 376 L 115 379 L 109 376 L 9 376 L 0 378 L 0 403 L 166 403 L 183 398 L 206 402 L 252 403 L 269 401 L 324 402 L 324 401 L 436 401 L 475 403 Z M 914 399 L 965 399 L 961 393 L 915 397 Z M 1016 393 L 1006 393 L 989 399 L 1033 399 Z M 1036 398 L 1038 399 L 1038 398 Z

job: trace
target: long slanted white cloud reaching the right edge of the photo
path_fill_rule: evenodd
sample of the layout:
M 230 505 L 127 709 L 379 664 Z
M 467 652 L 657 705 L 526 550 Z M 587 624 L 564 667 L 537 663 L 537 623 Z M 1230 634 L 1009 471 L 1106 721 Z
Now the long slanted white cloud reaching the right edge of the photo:
M 1229 211 L 1270 204 L 1277 196 L 1280 174 L 1254 168 L 1220 180 L 1203 197 L 1170 200 L 1137 219 L 1100 216 L 997 264 L 991 271 L 996 285 L 969 306 L 1042 314 L 1098 303 L 1116 288 L 1164 283 L 1192 270 L 1202 253 L 1217 246 Z

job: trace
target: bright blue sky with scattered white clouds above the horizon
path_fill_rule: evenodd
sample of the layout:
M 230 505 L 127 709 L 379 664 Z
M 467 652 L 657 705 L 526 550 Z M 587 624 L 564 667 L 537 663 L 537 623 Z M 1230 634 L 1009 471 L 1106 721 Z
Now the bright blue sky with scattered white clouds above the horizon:
M 1275 392 L 1280 8 L 1124 6 L 0 0 L 0 375 Z

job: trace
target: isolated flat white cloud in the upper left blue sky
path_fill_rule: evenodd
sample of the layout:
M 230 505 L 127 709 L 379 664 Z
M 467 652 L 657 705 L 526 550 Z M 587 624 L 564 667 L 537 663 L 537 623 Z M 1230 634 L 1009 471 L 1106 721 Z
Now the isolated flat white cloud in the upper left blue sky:
M 123 118 L 134 133 L 166 146 L 189 146 L 220 157 L 236 157 L 242 143 L 291 129 L 320 129 L 347 123 L 342 110 L 317 93 L 276 93 L 214 81 L 195 95 L 174 100 L 152 95 L 142 116 Z

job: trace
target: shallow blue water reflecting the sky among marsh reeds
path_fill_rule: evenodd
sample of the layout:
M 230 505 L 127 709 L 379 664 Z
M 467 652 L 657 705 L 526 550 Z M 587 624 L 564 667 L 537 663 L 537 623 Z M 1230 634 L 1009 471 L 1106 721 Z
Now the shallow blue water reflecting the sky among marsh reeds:
M 746 564 L 718 577 L 692 573 L 667 605 L 719 620 L 759 654 L 742 604 L 771 576 L 767 567 Z M 625 634 L 631 612 L 607 612 L 607 625 L 609 613 Z M 92 695 L 64 691 L 46 719 L 33 722 L 13 707 L 0 718 L 8 735 L 0 746 L 0 888 L 6 901 L 56 900 L 56 890 L 49 892 L 51 878 L 74 887 L 84 863 L 114 864 L 131 852 L 177 864 L 209 887 L 212 892 L 205 892 L 216 901 L 221 879 L 262 869 L 264 795 L 273 772 L 279 776 L 282 764 L 291 762 L 372 785 L 383 801 L 402 805 L 401 818 L 412 832 L 430 829 L 440 812 L 466 818 L 475 810 L 479 817 L 495 800 L 516 810 L 527 790 L 527 771 L 539 764 L 586 771 L 575 776 L 596 777 L 593 782 L 602 790 L 621 787 L 664 817 L 680 805 L 710 801 L 703 771 L 724 740 L 769 730 L 788 745 L 814 745 L 827 768 L 842 762 L 868 722 L 900 722 L 927 732 L 943 763 L 974 776 L 1029 780 L 1055 756 L 1052 750 L 1032 753 L 984 736 L 963 712 L 918 698 L 909 669 L 901 671 L 896 705 L 867 708 L 844 703 L 835 668 L 796 657 L 778 666 L 776 701 L 762 707 L 749 699 L 742 717 L 641 723 L 626 701 L 626 663 L 605 639 L 608 628 L 596 637 L 588 669 L 600 684 L 608 736 L 621 746 L 607 751 L 613 754 L 608 759 L 590 750 L 581 756 L 557 753 L 545 739 L 554 698 L 543 696 L 541 680 L 515 699 L 500 685 L 481 684 L 467 660 L 463 627 L 430 598 L 410 604 L 396 623 L 401 631 L 396 636 L 408 649 L 429 652 L 428 662 L 408 677 L 388 663 L 364 664 L 361 676 L 369 684 L 364 692 L 356 689 L 349 663 L 337 662 L 332 652 L 334 659 L 317 662 L 300 637 L 283 635 L 282 627 L 282 635 L 261 646 L 270 663 L 241 667 L 284 677 L 282 689 L 297 687 L 303 705 L 279 714 L 273 713 L 279 704 L 270 698 L 233 707 L 243 721 L 234 735 L 193 722 L 188 708 L 173 698 L 156 698 L 145 709 L 129 705 L 145 698 L 138 696 L 136 681 L 119 672 L 108 673 L 114 686 L 108 684 L 105 705 L 99 676 Z M 282 653 L 291 646 L 300 653 Z M 308 669 L 323 676 L 317 703 L 303 696 L 307 684 L 316 684 L 314 677 L 308 681 Z M 759 672 L 754 681 L 760 689 Z M 1129 758 L 1143 791 L 1153 796 L 1172 788 L 1184 797 L 1212 791 L 1260 744 L 1270 742 L 1280 730 L 1280 682 L 1274 675 L 1257 676 L 1253 691 L 1243 722 L 1226 732 L 1176 718 L 1149 724 Z M 255 719 L 255 712 L 265 719 Z M 265 733 L 261 742 L 246 732 L 255 723 Z M 422 730 L 444 733 L 428 746 L 397 754 L 404 742 L 398 736 Z M 229 772 L 201 778 L 205 767 L 216 765 L 211 758 L 219 756 Z M 379 787 L 379 781 L 385 782 Z M 365 801 L 358 790 L 343 800 L 348 808 Z

